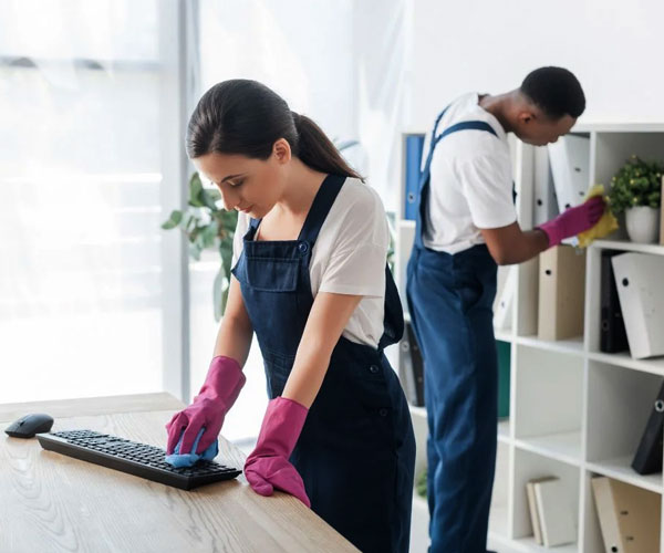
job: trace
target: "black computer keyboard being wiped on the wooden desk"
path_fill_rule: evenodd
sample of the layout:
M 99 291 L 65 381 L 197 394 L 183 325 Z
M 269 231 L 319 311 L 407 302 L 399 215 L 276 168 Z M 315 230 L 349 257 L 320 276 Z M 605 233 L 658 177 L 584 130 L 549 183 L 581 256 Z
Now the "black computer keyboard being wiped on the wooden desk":
M 215 461 L 198 461 L 193 467 L 176 469 L 164 460 L 163 449 L 93 430 L 38 434 L 37 439 L 44 449 L 181 490 L 230 480 L 241 473 Z

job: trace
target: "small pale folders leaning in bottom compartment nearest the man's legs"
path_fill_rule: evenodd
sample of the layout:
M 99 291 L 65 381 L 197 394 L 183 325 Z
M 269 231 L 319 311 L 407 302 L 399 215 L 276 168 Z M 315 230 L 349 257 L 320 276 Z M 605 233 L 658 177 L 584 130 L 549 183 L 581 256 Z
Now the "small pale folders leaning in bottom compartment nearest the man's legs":
M 553 547 L 577 541 L 572 503 L 562 480 L 543 477 L 526 484 L 532 533 L 538 545 Z

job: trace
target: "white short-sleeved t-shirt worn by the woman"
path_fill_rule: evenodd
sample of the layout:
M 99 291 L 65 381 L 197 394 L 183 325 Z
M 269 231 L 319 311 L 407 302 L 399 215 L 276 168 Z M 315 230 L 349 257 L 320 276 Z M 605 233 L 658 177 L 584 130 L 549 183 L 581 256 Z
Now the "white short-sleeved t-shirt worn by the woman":
M 238 213 L 232 265 L 243 248 L 249 216 Z M 321 227 L 311 252 L 311 293 L 363 295 L 342 335 L 357 344 L 377 347 L 383 335 L 385 263 L 390 228 L 377 192 L 355 178 L 346 178 Z

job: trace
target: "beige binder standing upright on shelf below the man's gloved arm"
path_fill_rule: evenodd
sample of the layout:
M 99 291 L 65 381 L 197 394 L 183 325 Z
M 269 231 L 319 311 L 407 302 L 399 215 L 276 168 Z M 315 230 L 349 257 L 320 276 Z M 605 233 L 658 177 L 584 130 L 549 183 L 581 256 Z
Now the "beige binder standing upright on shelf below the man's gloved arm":
M 583 335 L 585 252 L 557 246 L 540 254 L 538 337 Z

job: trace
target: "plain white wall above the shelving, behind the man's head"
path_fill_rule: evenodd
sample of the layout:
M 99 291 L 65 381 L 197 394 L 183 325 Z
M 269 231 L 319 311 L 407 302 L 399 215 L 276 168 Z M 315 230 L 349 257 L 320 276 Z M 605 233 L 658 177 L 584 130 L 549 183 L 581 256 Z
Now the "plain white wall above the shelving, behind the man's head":
M 465 92 L 516 88 L 542 65 L 577 75 L 583 122 L 664 122 L 662 0 L 407 1 L 411 127 L 428 128 Z

